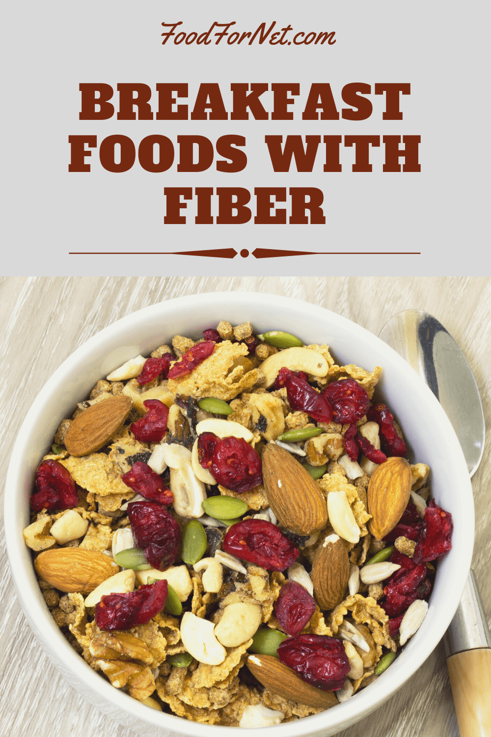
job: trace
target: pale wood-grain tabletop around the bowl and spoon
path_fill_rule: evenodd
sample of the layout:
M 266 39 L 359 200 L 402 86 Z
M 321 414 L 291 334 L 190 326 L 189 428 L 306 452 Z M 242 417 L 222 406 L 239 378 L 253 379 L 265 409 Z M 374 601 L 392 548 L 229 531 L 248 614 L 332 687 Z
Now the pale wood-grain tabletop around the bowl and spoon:
M 487 278 L 10 277 L 0 280 L 4 375 L 0 478 L 5 478 L 10 448 L 32 400 L 54 369 L 91 335 L 158 301 L 227 290 L 268 292 L 319 304 L 375 335 L 395 312 L 408 308 L 431 312 L 464 351 L 489 427 L 491 280 Z M 487 615 L 491 615 L 490 447 L 488 441 L 473 477 L 473 568 Z M 133 737 L 133 731 L 82 699 L 43 654 L 15 596 L 3 534 L 0 555 L 0 737 Z M 340 737 L 458 735 L 442 643 L 389 702 L 339 733 Z

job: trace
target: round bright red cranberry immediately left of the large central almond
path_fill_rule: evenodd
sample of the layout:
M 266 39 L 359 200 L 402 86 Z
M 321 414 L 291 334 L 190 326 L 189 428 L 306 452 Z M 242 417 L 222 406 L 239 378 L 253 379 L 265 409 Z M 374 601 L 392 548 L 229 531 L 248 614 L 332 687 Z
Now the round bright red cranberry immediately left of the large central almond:
M 216 483 L 241 494 L 263 481 L 261 458 L 244 438 L 219 439 L 211 456 L 210 472 Z

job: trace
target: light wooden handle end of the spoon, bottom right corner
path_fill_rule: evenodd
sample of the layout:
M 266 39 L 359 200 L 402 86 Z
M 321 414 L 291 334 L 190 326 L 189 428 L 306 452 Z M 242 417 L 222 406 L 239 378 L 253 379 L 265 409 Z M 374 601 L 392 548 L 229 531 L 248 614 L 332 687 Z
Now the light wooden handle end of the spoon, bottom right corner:
M 491 649 L 458 652 L 447 665 L 460 737 L 491 737 Z

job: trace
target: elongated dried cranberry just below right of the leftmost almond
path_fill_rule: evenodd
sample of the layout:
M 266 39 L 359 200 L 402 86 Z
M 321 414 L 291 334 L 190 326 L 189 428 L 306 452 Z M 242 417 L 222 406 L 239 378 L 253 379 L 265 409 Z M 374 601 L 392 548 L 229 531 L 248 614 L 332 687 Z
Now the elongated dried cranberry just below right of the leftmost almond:
M 112 632 L 113 629 L 131 629 L 138 624 L 146 624 L 165 607 L 167 592 L 167 581 L 162 579 L 155 584 L 141 586 L 138 591 L 107 594 L 96 604 L 96 625 Z

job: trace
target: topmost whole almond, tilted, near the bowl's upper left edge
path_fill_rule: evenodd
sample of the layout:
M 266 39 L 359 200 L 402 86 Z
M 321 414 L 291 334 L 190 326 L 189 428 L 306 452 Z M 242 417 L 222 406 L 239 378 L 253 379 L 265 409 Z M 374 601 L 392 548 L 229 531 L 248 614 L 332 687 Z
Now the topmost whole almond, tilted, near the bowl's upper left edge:
M 130 413 L 132 401 L 124 394 L 88 407 L 68 425 L 65 436 L 70 455 L 87 455 L 99 450 L 116 433 Z

